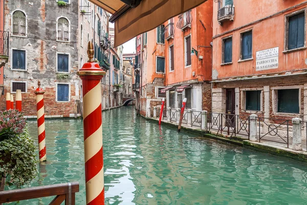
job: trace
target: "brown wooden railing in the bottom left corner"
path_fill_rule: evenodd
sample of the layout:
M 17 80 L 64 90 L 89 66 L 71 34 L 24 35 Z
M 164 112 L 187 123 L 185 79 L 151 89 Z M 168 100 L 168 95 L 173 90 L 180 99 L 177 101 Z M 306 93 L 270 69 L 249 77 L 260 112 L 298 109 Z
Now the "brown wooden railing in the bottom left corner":
M 79 192 L 79 182 L 16 189 L 0 192 L 0 203 L 56 196 L 49 205 L 60 205 L 64 200 L 65 205 L 75 205 L 76 192 Z

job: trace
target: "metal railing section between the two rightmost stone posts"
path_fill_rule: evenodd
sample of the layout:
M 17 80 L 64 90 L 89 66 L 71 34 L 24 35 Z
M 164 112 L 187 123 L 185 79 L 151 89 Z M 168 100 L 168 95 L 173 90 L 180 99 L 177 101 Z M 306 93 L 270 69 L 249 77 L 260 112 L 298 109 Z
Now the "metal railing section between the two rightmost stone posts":
M 280 144 L 287 145 L 287 148 L 289 148 L 289 124 L 292 124 L 291 120 L 258 117 L 257 121 L 259 142 L 261 140 L 277 142 Z M 270 121 L 274 121 L 274 123 L 271 123 Z

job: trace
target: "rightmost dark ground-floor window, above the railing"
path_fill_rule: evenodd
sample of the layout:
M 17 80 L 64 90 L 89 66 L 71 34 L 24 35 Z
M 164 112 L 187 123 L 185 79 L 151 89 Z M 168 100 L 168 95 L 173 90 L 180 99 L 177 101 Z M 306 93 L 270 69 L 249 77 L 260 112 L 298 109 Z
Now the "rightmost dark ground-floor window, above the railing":
M 277 111 L 284 113 L 299 113 L 299 89 L 277 91 Z

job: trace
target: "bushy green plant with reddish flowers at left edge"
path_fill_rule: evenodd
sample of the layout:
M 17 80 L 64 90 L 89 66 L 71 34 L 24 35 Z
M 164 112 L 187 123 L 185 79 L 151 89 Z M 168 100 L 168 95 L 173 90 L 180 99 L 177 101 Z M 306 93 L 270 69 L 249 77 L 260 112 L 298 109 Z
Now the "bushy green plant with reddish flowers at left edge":
M 0 111 L 0 191 L 26 185 L 37 175 L 34 140 L 17 110 Z

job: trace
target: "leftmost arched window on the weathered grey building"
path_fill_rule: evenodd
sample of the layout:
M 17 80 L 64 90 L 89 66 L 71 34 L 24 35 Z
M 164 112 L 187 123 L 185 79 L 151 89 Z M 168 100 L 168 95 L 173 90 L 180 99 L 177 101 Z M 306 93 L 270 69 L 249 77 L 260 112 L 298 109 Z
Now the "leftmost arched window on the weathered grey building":
M 27 16 L 23 11 L 16 10 L 12 13 L 12 34 L 27 36 Z

